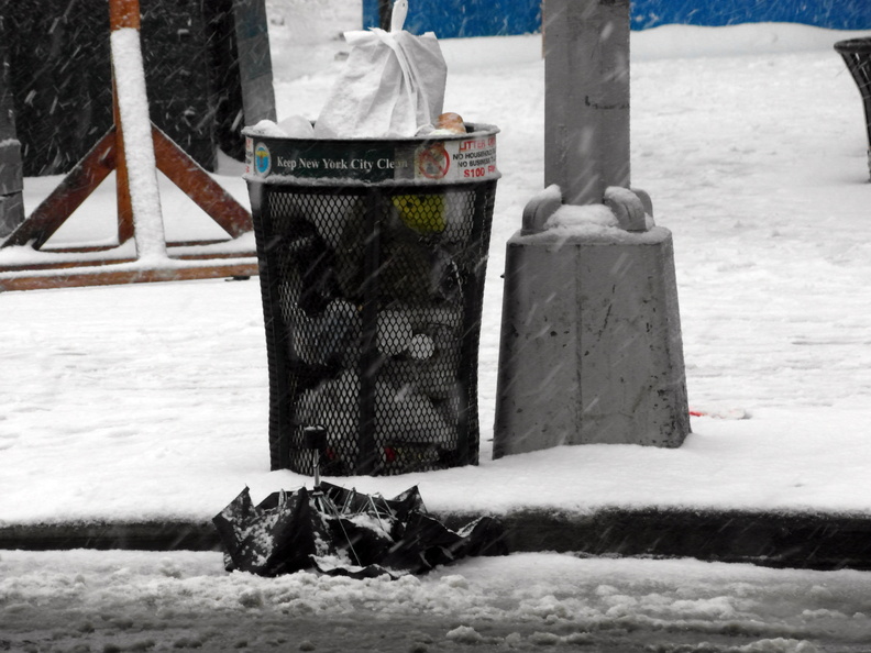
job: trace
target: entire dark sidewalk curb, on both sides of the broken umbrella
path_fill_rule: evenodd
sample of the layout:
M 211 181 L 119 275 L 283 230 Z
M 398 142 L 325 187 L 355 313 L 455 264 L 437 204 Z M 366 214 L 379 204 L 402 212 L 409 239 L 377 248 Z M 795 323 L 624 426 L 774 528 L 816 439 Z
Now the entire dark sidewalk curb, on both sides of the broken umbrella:
M 478 514 L 439 514 L 450 528 Z M 609 508 L 500 516 L 510 552 L 695 557 L 807 569 L 871 569 L 871 516 Z M 0 527 L 0 549 L 219 551 L 211 522 L 51 523 Z

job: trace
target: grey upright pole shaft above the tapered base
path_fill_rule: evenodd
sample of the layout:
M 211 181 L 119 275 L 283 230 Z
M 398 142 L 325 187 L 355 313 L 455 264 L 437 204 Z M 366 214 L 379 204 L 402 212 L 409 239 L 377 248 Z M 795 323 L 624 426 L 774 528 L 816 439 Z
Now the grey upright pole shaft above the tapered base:
M 544 186 L 602 203 L 629 187 L 629 0 L 545 0 L 544 54 Z

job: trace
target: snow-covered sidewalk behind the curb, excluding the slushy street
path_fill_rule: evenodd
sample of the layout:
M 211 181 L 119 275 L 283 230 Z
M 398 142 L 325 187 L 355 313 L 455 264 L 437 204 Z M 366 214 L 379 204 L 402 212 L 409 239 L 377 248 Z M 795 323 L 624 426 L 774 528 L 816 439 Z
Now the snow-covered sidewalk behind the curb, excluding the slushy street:
M 279 118 L 316 117 L 341 62 L 312 58 L 301 75 L 307 44 L 288 23 L 272 29 Z M 541 44 L 443 42 L 445 109 L 503 130 L 481 465 L 339 483 L 386 496 L 419 484 L 439 511 L 871 512 L 871 185 L 859 95 L 831 49 L 852 35 L 773 24 L 633 33 L 632 177 L 674 233 L 691 406 L 752 417 L 694 419 L 676 451 L 595 445 L 497 462 L 499 275 L 542 187 Z M 232 168 L 219 178 L 244 200 Z M 56 181 L 27 179 L 27 208 Z M 167 234 L 214 235 L 162 181 Z M 113 202 L 106 182 L 54 242 L 110 237 Z M 260 301 L 256 279 L 3 294 L 0 523 L 205 522 L 245 485 L 258 500 L 305 483 L 268 471 Z

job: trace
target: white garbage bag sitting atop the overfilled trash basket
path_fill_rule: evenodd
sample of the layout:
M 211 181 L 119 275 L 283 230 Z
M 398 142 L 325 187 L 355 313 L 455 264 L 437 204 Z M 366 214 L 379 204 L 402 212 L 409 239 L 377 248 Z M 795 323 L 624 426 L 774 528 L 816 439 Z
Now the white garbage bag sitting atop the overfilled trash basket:
M 403 31 L 407 8 L 397 0 L 389 32 L 345 33 L 351 53 L 315 123 L 317 137 L 408 137 L 436 124 L 448 66 L 432 32 Z

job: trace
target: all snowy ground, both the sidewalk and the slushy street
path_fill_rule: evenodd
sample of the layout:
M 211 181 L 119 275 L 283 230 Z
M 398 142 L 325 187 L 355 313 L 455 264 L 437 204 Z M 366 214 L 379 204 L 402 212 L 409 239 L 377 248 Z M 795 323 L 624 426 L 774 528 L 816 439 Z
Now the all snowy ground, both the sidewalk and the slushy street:
M 271 7 L 279 118 L 317 115 L 341 65 L 341 43 L 323 36 L 359 15 L 316 4 L 332 13 L 305 24 Z M 540 40 L 444 42 L 445 109 L 503 130 L 481 465 L 335 480 L 385 495 L 418 484 L 439 511 L 871 513 L 871 185 L 857 89 L 831 49 L 852 35 L 764 24 L 633 34 L 633 182 L 674 233 L 691 405 L 751 417 L 694 419 L 675 451 L 602 445 L 498 462 L 488 440 L 499 275 L 505 241 L 542 186 Z M 238 170 L 225 173 L 244 200 Z M 27 209 L 56 182 L 29 179 Z M 162 192 L 170 237 L 216 234 L 184 197 L 165 184 Z M 55 242 L 110 237 L 113 203 L 107 182 Z M 0 307 L 0 525 L 205 522 L 245 485 L 256 500 L 306 482 L 268 472 L 256 279 L 9 292 Z M 228 575 L 217 553 L 0 552 L 0 650 L 329 651 L 353 641 L 422 652 L 483 641 L 861 651 L 869 590 L 871 576 L 857 572 L 552 554 L 389 584 Z

